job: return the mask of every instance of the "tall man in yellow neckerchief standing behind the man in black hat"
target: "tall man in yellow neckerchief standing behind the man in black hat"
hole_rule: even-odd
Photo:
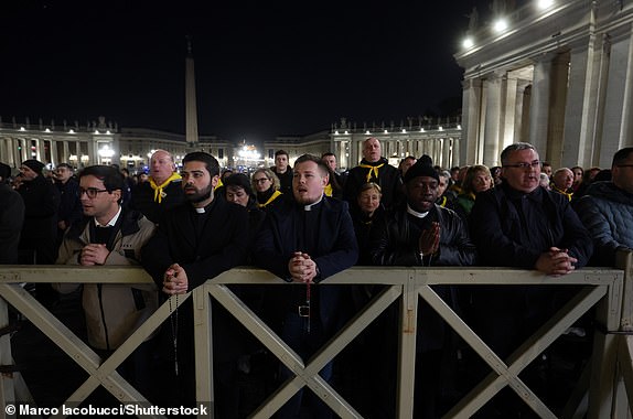
[[[400,172],[380,154],[380,142],[377,139],[371,137],[363,142],[363,160],[361,164],[350,170],[343,191],[343,197],[350,205],[357,205],[358,190],[368,182],[380,186],[383,191],[380,203],[386,210],[390,210],[400,201],[403,184]]]

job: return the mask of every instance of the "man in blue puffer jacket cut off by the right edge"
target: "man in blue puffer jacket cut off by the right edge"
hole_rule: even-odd
[[[616,251],[633,248],[633,147],[613,155],[611,176],[592,183],[576,207],[593,237],[596,266],[615,266]]]

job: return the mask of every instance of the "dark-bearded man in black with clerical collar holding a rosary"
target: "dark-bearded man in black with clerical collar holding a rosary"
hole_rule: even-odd
[[[142,265],[165,297],[184,294],[244,265],[248,250],[247,210],[214,194],[219,181],[217,160],[202,151],[189,153],[181,174],[186,202],[163,214],[157,234],[142,249]],[[204,401],[195,400],[193,307],[191,299],[181,308],[178,298],[174,303],[171,327],[162,329],[168,362],[161,400],[172,406],[193,406]],[[215,399],[221,418],[238,413],[236,373],[243,351],[242,336],[235,333],[238,325],[232,319],[219,304],[214,305]]]

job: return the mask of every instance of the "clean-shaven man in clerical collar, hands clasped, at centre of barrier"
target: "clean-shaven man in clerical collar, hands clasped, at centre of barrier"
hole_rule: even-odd
[[[283,314],[281,337],[303,359],[313,355],[342,325],[342,311],[351,304],[341,287],[312,287],[356,262],[358,246],[347,204],[323,191],[329,181],[325,164],[304,154],[294,163],[294,202],[271,211],[258,235],[254,253],[257,266],[302,286],[283,287],[279,299]],[[312,310],[311,310],[312,309]],[[321,370],[330,380],[331,363]],[[281,368],[282,378],[293,374]],[[298,417],[302,390],[279,411],[280,418]],[[332,411],[320,400],[310,410],[328,418]]]

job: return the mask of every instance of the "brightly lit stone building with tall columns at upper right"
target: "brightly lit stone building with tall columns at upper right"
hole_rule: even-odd
[[[494,11],[483,26],[471,17],[454,55],[464,68],[460,160],[497,165],[504,147],[528,141],[555,168],[610,168],[633,144],[633,4],[540,0]]]

